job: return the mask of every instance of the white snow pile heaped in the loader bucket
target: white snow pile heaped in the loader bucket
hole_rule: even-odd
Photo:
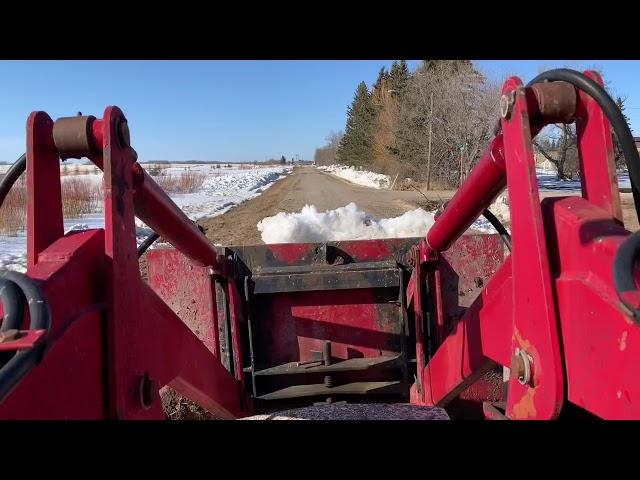
[[[314,205],[296,213],[280,212],[258,222],[258,231],[264,243],[298,243],[421,237],[431,225],[433,214],[421,208],[378,220],[352,202],[325,212]]]

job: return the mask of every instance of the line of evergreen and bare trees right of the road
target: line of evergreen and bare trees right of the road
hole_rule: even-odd
[[[470,60],[406,61],[381,68],[371,88],[360,82],[347,108],[344,132],[331,132],[316,149],[318,165],[341,163],[425,188],[455,188],[469,174],[493,137],[502,82],[492,81]],[[609,89],[609,86],[606,87]],[[624,110],[624,100],[617,97]],[[575,125],[547,127],[534,142],[558,178],[578,174]],[[614,138],[616,164],[623,162]]]

